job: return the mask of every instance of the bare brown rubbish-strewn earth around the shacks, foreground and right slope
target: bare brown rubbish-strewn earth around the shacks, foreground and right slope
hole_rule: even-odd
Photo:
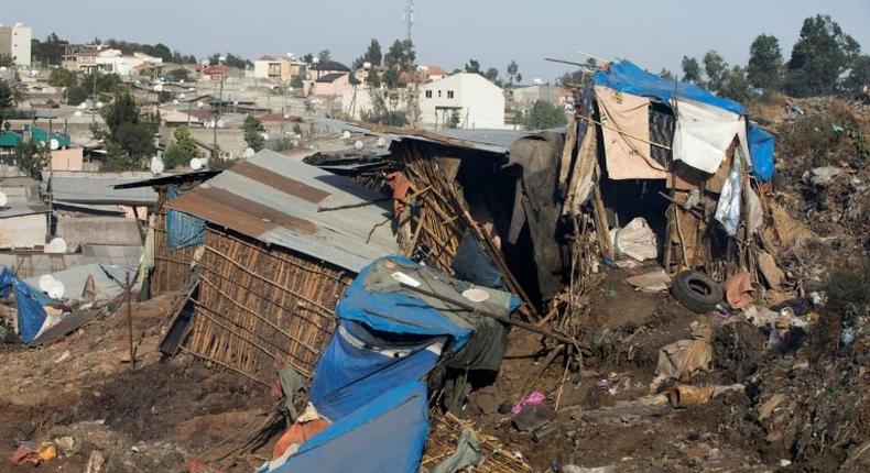
[[[791,295],[827,292],[817,320],[787,329],[774,345],[771,329],[741,312],[698,316],[666,293],[633,290],[627,272],[607,270],[591,293],[592,352],[583,363],[548,359],[546,341],[514,330],[494,383],[476,391],[459,417],[534,472],[569,464],[578,469],[564,471],[870,471],[870,156],[861,151],[870,109],[834,99],[765,107],[757,113],[777,133],[780,163],[769,197],[782,213],[779,227],[794,237],[776,256],[800,283]],[[823,166],[839,170],[814,180]],[[757,304],[790,294],[760,294]],[[50,346],[3,345],[0,471],[186,471],[262,421],[273,404],[267,389],[185,355],[161,360],[156,345],[173,302],[133,305],[135,369],[123,312]],[[651,396],[650,383],[660,349],[688,339],[696,320],[713,327],[713,371],[692,384],[744,388],[675,408]],[[534,391],[558,420],[540,441],[500,414]],[[7,460],[20,441],[50,439],[61,453],[54,460],[36,468]],[[224,464],[252,471],[268,452]]]

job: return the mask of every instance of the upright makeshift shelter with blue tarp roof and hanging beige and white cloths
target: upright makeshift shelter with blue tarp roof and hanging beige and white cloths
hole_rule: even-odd
[[[595,228],[608,260],[620,253],[619,229],[643,218],[632,223],[661,238],[661,252],[650,244],[668,271],[704,267],[724,279],[750,266],[773,136],[740,103],[628,61],[592,82],[576,98],[566,140],[563,215]]]

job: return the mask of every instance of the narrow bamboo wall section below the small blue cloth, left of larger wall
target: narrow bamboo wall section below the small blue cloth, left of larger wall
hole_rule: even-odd
[[[170,250],[166,241],[166,211],[157,213],[154,223],[154,270],[151,273],[151,294],[183,290],[191,283],[191,262],[202,245]]]

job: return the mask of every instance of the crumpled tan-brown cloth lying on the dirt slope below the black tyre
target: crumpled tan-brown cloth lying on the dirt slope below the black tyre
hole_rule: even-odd
[[[713,363],[713,330],[704,322],[692,322],[692,340],[679,340],[659,350],[657,380],[688,382],[697,372],[709,372]]]

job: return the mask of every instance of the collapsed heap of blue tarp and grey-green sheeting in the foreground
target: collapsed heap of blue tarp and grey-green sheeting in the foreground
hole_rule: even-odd
[[[428,432],[426,385],[439,388],[449,376],[436,364],[498,371],[503,354],[500,322],[444,299],[502,316],[519,305],[508,293],[401,256],[360,272],[336,308],[339,328],[312,380],[311,404],[329,427],[289,446],[260,471],[417,471]]]

